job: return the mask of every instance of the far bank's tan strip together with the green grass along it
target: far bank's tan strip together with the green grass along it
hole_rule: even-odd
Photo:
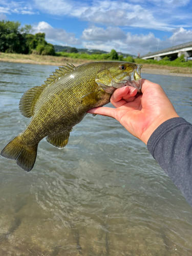
[[[64,55],[64,56],[63,56]],[[65,65],[66,62],[73,63],[75,66],[78,66],[82,63],[87,63],[90,61],[99,61],[99,60],[109,60],[109,59],[92,59],[91,57],[95,57],[94,55],[102,55],[102,54],[93,54],[88,55],[87,58],[74,58],[74,53],[65,53],[61,56],[46,56],[46,55],[35,55],[35,54],[15,54],[15,53],[1,53],[0,61],[8,61],[8,62],[17,62],[17,63],[30,63],[30,64],[38,64],[38,65],[52,65],[52,66],[62,66]],[[83,54],[78,54],[82,57]],[[73,57],[72,57],[73,56]],[[85,57],[85,56],[84,56]],[[132,57],[128,57],[126,61],[133,61]],[[148,70],[168,70],[171,73],[180,73],[180,74],[192,74],[192,61],[187,62],[178,62],[176,61],[167,61],[167,60],[144,60],[144,59],[134,59],[134,61],[138,64],[143,65],[143,69]],[[170,63],[172,62],[172,63]],[[187,64],[188,63],[188,64]],[[191,64],[190,64],[191,63]],[[180,65],[171,66],[171,65]],[[187,67],[186,65],[189,65]],[[191,66],[190,66],[191,65]]]

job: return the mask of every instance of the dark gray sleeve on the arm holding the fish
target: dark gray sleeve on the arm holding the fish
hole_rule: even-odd
[[[181,117],[165,121],[147,148],[192,206],[192,125]]]

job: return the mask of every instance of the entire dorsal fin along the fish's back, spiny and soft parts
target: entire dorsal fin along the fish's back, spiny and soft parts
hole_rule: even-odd
[[[34,106],[42,93],[42,91],[47,87],[50,83],[52,83],[57,78],[66,75],[67,73],[73,71],[75,69],[75,66],[73,64],[67,63],[66,66],[59,67],[59,69],[56,69],[55,72],[53,72],[53,75],[50,75],[49,78],[47,78],[47,81],[45,81],[44,84],[41,86],[35,86],[33,88],[30,88],[27,90],[22,98],[19,101],[19,110],[22,115],[24,115],[27,118],[30,118],[33,116],[33,110]]]

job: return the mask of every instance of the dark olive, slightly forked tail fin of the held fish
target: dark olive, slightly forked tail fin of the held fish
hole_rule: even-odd
[[[18,166],[30,172],[37,156],[37,145],[28,146],[22,143],[22,136],[18,135],[1,152],[1,156],[16,160]]]

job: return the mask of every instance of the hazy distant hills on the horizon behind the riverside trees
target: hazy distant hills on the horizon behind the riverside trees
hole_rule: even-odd
[[[54,46],[55,52],[62,52],[63,50],[70,52],[70,49],[71,49],[71,48],[72,48],[72,47],[70,47],[70,46],[57,46],[57,45]],[[94,54],[94,53],[97,53],[97,54],[109,53],[109,52],[105,52],[105,51],[98,50],[98,49],[89,50],[89,49],[78,49],[78,48],[77,48],[77,51],[78,51],[79,53],[80,53],[80,52],[84,52],[84,53],[88,53],[88,54]],[[135,55],[126,54],[126,53],[121,53],[121,52],[118,52],[118,55],[123,55],[124,58],[126,58],[127,56],[132,56],[132,57],[134,57],[134,58],[136,57]]]

